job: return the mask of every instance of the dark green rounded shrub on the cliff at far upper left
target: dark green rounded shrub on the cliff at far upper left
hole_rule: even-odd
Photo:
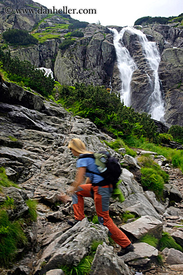
[[[37,44],[38,40],[34,38],[27,30],[9,28],[2,33],[2,38],[10,44],[29,45]]]

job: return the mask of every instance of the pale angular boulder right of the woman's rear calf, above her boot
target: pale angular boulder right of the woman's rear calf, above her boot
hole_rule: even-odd
[[[160,239],[162,236],[163,222],[154,216],[146,215],[122,225],[121,228],[137,239],[140,239],[146,234],[152,234]]]

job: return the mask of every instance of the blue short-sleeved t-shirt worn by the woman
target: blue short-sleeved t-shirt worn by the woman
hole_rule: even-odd
[[[80,154],[82,155],[82,154]],[[95,159],[92,157],[85,157],[85,158],[79,158],[76,163],[76,167],[86,167],[88,170],[96,173],[100,173],[100,171],[97,168],[97,165],[95,164]],[[86,172],[85,174],[87,177],[90,178],[92,183],[98,183],[99,181],[103,180],[104,177],[98,174],[92,174],[89,172]]]

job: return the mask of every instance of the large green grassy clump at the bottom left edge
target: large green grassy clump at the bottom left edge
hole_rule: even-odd
[[[18,220],[10,221],[7,212],[0,209],[0,266],[15,259],[17,251],[27,242]]]

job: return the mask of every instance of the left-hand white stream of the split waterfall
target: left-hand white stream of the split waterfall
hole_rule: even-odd
[[[121,100],[124,101],[126,106],[131,106],[131,79],[132,74],[137,65],[135,64],[133,58],[130,56],[128,49],[123,45],[122,38],[125,31],[118,33],[118,31],[113,28],[110,29],[114,33],[114,46],[116,49],[118,69],[120,71],[120,77],[122,80],[122,88],[120,90]],[[120,41],[120,42],[119,42]]]

